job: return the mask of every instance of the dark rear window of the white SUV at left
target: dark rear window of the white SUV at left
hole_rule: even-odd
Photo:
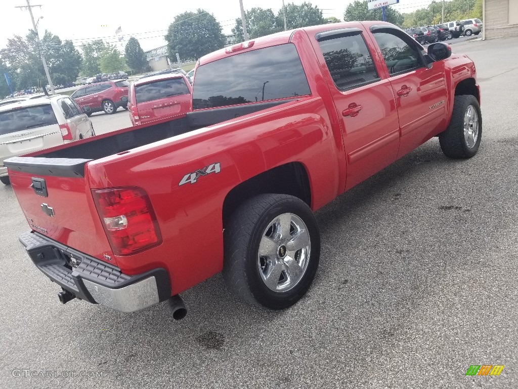
[[[0,112],[0,135],[57,124],[50,104]]]

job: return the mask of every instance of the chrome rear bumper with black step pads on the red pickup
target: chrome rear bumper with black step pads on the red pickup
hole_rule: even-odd
[[[37,232],[20,235],[36,267],[76,297],[120,312],[135,312],[171,297],[165,269],[126,275],[115,266]]]

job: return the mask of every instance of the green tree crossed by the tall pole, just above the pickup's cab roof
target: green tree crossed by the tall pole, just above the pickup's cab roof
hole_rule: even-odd
[[[282,29],[276,25],[276,17],[271,8],[252,8],[250,11],[244,12],[244,19],[247,21],[247,34],[249,39],[282,31]],[[241,18],[236,19],[236,25],[232,29],[232,33],[236,36],[236,42],[242,42],[244,40]]]

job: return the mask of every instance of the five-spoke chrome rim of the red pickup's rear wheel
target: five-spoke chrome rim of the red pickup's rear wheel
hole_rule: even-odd
[[[306,224],[297,215],[284,213],[265,229],[257,267],[265,285],[276,292],[292,289],[308,268],[311,241]]]

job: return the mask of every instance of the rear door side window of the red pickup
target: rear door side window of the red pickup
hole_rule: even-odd
[[[319,45],[338,90],[346,91],[380,79],[361,34],[326,39]]]

